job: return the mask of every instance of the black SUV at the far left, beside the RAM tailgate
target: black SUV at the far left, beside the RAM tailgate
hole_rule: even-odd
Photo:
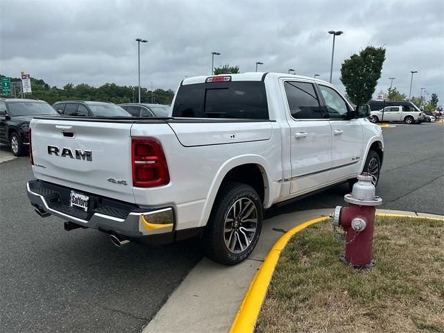
[[[0,142],[9,144],[15,156],[23,155],[29,146],[29,122],[43,115],[60,117],[45,101],[0,99]]]

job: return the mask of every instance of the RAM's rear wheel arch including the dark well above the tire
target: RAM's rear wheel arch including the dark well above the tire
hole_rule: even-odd
[[[261,198],[262,205],[267,206],[271,200],[272,182],[268,175],[271,173],[268,163],[264,157],[259,155],[244,155],[241,157],[234,157],[228,160],[221,166],[216,173],[210,191],[208,192],[203,207],[202,215],[200,216],[199,227],[205,226],[210,217],[214,200],[221,189],[221,185],[225,182],[243,182],[253,187],[259,198]]]

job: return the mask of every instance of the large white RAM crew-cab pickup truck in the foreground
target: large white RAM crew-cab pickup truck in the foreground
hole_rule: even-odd
[[[384,144],[369,113],[313,78],[186,78],[170,117],[34,118],[28,198],[66,230],[116,245],[200,236],[208,257],[236,264],[267,208],[363,171],[377,184]]]

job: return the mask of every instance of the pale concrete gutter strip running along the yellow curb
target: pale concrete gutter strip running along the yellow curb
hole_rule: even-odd
[[[294,226],[332,212],[334,207],[282,214],[265,220],[255,250],[236,266],[223,266],[203,258],[143,333],[229,332],[250,282],[275,242]],[[377,210],[377,213],[443,217],[395,210]],[[168,277],[165,277],[165,282],[168,282]]]

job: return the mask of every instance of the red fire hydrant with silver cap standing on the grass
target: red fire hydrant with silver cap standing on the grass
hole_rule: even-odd
[[[344,200],[350,203],[349,207],[337,206],[334,214],[330,215],[334,231],[341,225],[347,233],[345,255],[341,256],[341,260],[355,268],[368,268],[376,264],[372,259],[373,230],[376,206],[382,204],[382,199],[375,196],[372,179],[366,173],[358,176],[352,193],[344,196]]]

